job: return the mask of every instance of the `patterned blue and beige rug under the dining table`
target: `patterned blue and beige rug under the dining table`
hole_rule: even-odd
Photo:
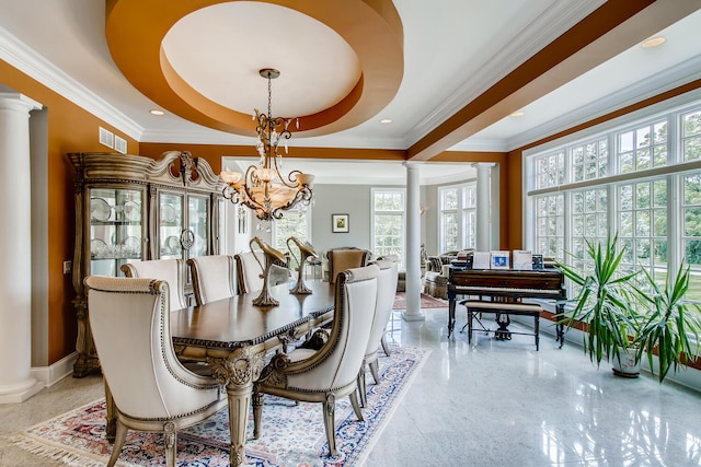
[[[380,351],[381,384],[367,374],[368,404],[365,421],[358,422],[347,397],[336,402],[335,457],[325,457],[321,404],[300,402],[265,396],[262,435],[252,440],[253,416],[249,416],[246,466],[354,466],[363,464],[382,429],[411,386],[429,350],[391,347],[391,355]],[[229,465],[229,416],[222,409],[208,420],[177,434],[177,466],[215,467]],[[104,399],[11,435],[12,441],[35,454],[71,466],[104,466],[112,453],[105,440]],[[118,466],[164,465],[160,434],[129,430]]]

